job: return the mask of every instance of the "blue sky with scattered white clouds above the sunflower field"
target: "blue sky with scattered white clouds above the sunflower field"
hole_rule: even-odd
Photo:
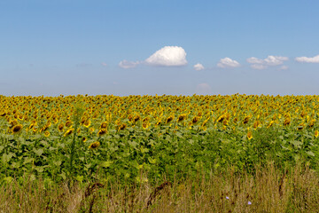
[[[0,91],[318,94],[318,10],[315,0],[2,0]]]

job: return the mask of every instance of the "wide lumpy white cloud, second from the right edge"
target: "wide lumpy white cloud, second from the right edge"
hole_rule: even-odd
[[[288,57],[284,56],[268,56],[266,59],[257,59],[255,57],[246,59],[246,61],[252,64],[253,69],[265,69],[268,66],[278,66],[284,64],[284,61],[288,60]]]

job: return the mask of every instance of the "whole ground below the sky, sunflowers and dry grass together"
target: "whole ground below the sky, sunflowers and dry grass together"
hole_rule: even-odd
[[[318,207],[317,96],[0,96],[0,102],[2,209]]]

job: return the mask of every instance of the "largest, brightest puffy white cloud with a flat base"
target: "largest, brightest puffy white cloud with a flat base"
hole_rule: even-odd
[[[183,66],[187,64],[186,52],[182,47],[165,46],[153,53],[145,63],[152,66]]]

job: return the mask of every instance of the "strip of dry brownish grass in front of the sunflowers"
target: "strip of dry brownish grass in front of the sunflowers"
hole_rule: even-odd
[[[1,212],[318,212],[319,176],[269,166],[254,176],[198,174],[152,186],[94,183],[45,187],[42,180],[1,186]],[[250,204],[251,203],[251,204]]]

